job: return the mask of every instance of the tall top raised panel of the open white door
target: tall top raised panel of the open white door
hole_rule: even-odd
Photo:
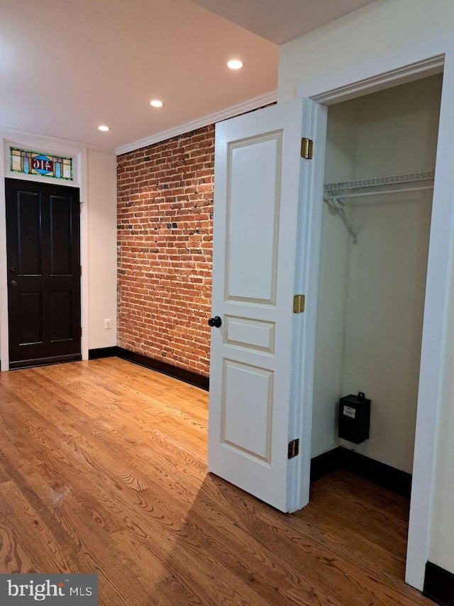
[[[276,304],[282,131],[228,147],[228,301]]]

